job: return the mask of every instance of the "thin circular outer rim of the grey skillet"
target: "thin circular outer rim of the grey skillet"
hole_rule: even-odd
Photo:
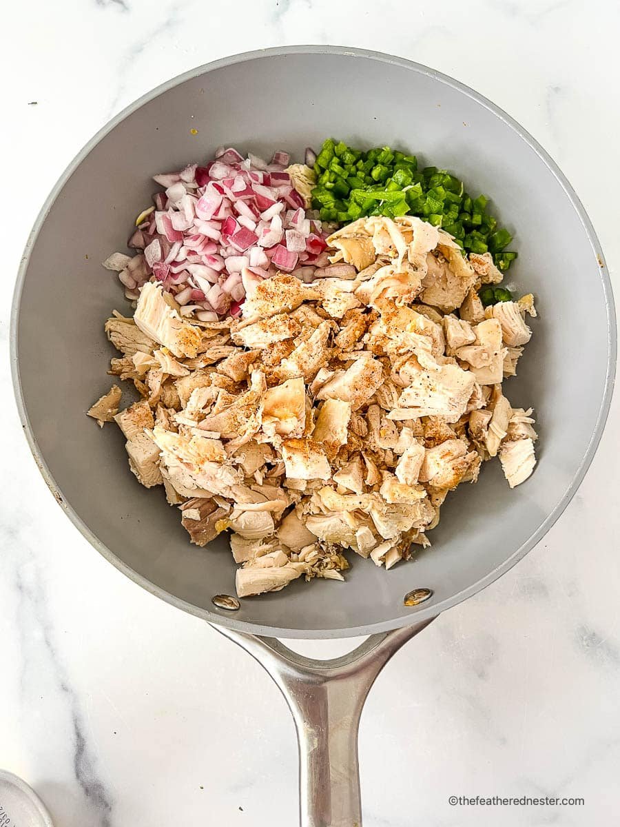
[[[594,428],[592,437],[589,441],[588,447],[584,452],[584,456],[582,457],[579,466],[575,471],[575,475],[573,476],[572,480],[570,480],[570,485],[565,490],[564,495],[558,501],[555,508],[552,509],[551,513],[546,516],[546,519],[541,523],[537,531],[533,533],[530,538],[527,539],[526,543],[523,543],[520,547],[517,548],[515,552],[513,552],[513,554],[511,554],[506,560],[504,560],[503,563],[501,563],[499,566],[496,566],[496,568],[494,568],[493,571],[490,571],[488,575],[484,576],[479,581],[476,581],[471,586],[468,586],[466,589],[457,592],[455,595],[452,595],[450,598],[442,600],[441,603],[428,606],[422,605],[418,609],[415,609],[413,611],[410,609],[406,614],[399,614],[397,617],[381,621],[380,623],[369,624],[366,626],[351,627],[346,629],[286,629],[237,620],[234,616],[230,614],[219,614],[209,609],[199,608],[198,606],[188,603],[186,600],[181,600],[179,597],[170,594],[168,591],[161,588],[160,586],[155,586],[154,583],[147,580],[147,578],[145,578],[141,574],[138,574],[138,572],[133,571],[133,569],[131,569],[130,566],[128,566],[119,557],[117,557],[117,555],[114,552],[112,552],[112,550],[109,549],[90,530],[90,528],[88,528],[86,523],[84,523],[83,520],[79,517],[79,514],[77,514],[77,512],[73,509],[69,502],[64,499],[64,495],[60,490],[59,486],[56,484],[55,479],[52,476],[50,469],[48,468],[45,462],[45,458],[43,457],[37,445],[36,436],[33,433],[30,419],[28,418],[26,404],[21,389],[21,375],[18,359],[18,327],[21,311],[21,294],[23,291],[24,283],[26,281],[26,272],[28,270],[28,265],[30,263],[31,251],[33,250],[36,244],[37,237],[41,232],[41,227],[43,227],[45,219],[50,213],[50,209],[53,207],[56,198],[58,198],[58,196],[60,195],[60,192],[64,188],[64,185],[69,181],[71,175],[74,174],[74,171],[78,169],[79,165],[86,158],[86,156],[94,149],[95,146],[97,146],[100,143],[100,141],[103,140],[105,136],[107,136],[107,134],[110,131],[112,131],[112,129],[117,127],[119,123],[124,121],[134,112],[137,112],[145,103],[149,103],[151,100],[157,98],[160,94],[167,92],[169,89],[174,88],[175,86],[179,86],[180,84],[183,84],[184,82],[194,79],[202,74],[207,74],[208,72],[211,72],[214,69],[226,68],[227,66],[245,63],[249,60],[256,60],[259,58],[272,56],[279,57],[283,55],[352,56],[355,58],[376,60],[380,63],[387,63],[389,65],[400,66],[403,69],[410,69],[417,72],[418,74],[424,74],[427,77],[435,80],[439,84],[445,84],[447,86],[450,86],[458,92],[465,94],[467,97],[472,98],[473,100],[475,100],[476,103],[479,103],[479,105],[488,109],[489,112],[492,112],[508,127],[515,131],[517,135],[522,139],[522,141],[525,141],[527,145],[530,146],[530,148],[536,152],[536,154],[539,156],[542,162],[551,171],[551,174],[553,174],[554,177],[557,179],[558,183],[560,184],[560,187],[564,190],[566,197],[569,198],[572,207],[575,209],[575,213],[577,213],[579,221],[584,227],[584,231],[586,237],[588,238],[590,246],[592,247],[594,257],[599,263],[599,275],[603,287],[603,297],[607,313],[607,370],[605,375],[605,387],[603,391],[603,398],[601,399],[601,404],[599,406],[599,413],[596,419],[596,426]],[[90,139],[90,141],[88,141],[83,146],[79,153],[75,155],[74,159],[66,167],[64,172],[60,175],[60,178],[56,182],[48,197],[45,199],[45,203],[41,208],[41,212],[37,216],[36,222],[34,223],[30,235],[26,241],[26,246],[21,256],[20,267],[17,273],[17,281],[12,299],[10,347],[13,390],[17,402],[17,409],[19,411],[23,431],[26,434],[26,440],[31,449],[32,455],[36,461],[36,465],[38,466],[39,471],[41,471],[41,475],[43,476],[45,483],[50,488],[51,493],[54,495],[55,500],[60,504],[61,508],[64,509],[65,514],[67,514],[67,516],[69,517],[71,522],[74,523],[76,528],[79,529],[79,532],[83,535],[83,537],[86,538],[88,542],[94,548],[96,548],[100,554],[102,554],[102,556],[107,560],[107,562],[111,562],[113,566],[115,566],[119,571],[122,571],[122,573],[129,577],[131,581],[134,581],[138,586],[141,586],[151,595],[160,597],[162,600],[165,600],[167,603],[174,605],[176,608],[183,609],[184,611],[188,612],[188,614],[193,614],[196,617],[199,617],[203,620],[207,620],[207,622],[209,623],[220,624],[222,626],[226,626],[228,629],[235,629],[238,632],[266,635],[272,638],[303,639],[357,637],[369,635],[372,633],[387,632],[391,629],[399,629],[409,624],[419,623],[421,621],[431,619],[432,617],[435,617],[437,614],[441,614],[441,612],[446,611],[446,609],[451,609],[452,606],[458,605],[459,603],[463,602],[463,600],[467,600],[467,598],[477,594],[479,591],[486,588],[486,586],[489,586],[491,583],[496,581],[498,577],[502,576],[507,571],[509,571],[517,562],[519,562],[519,560],[522,559],[522,557],[525,557],[527,552],[531,551],[531,549],[535,545],[537,545],[537,543],[540,542],[541,538],[543,538],[547,531],[549,531],[551,526],[554,523],[556,523],[556,520],[560,518],[560,514],[564,512],[566,506],[570,503],[570,500],[572,500],[573,496],[575,495],[575,492],[577,491],[579,485],[584,479],[585,473],[586,471],[588,471],[590,463],[594,458],[594,454],[597,448],[599,447],[599,442],[603,435],[603,428],[608,418],[609,408],[611,405],[613,395],[618,344],[616,313],[613,303],[613,291],[611,280],[609,278],[607,265],[605,264],[603,249],[600,245],[599,238],[597,237],[596,232],[594,231],[592,222],[590,221],[583,204],[580,202],[579,197],[575,193],[575,190],[570,185],[568,179],[566,179],[565,174],[562,173],[558,165],[556,165],[556,162],[551,158],[551,155],[549,155],[546,152],[546,150],[544,150],[542,146],[538,143],[538,141],[536,141],[529,134],[529,132],[523,129],[523,127],[521,127],[520,124],[518,124],[513,119],[513,117],[510,117],[510,115],[508,115],[507,112],[504,112],[503,109],[499,108],[494,103],[489,101],[488,98],[484,98],[483,95],[475,92],[474,89],[466,86],[465,84],[461,84],[460,81],[451,78],[449,75],[438,72],[436,71],[436,69],[431,69],[428,66],[416,63],[413,60],[407,60],[406,58],[387,55],[384,52],[378,52],[367,49],[358,49],[348,46],[293,45],[277,46],[269,49],[242,52],[238,55],[229,55],[219,60],[213,60],[207,64],[200,65],[198,67],[195,67],[194,69],[189,69],[187,72],[179,74],[176,77],[165,81],[164,84],[160,84],[159,86],[151,89],[149,92],[142,95],[141,98],[137,98],[136,101],[129,104],[129,106],[124,108],[122,112],[119,112],[115,117],[108,121],[107,124],[105,124],[105,126],[103,126]]]

